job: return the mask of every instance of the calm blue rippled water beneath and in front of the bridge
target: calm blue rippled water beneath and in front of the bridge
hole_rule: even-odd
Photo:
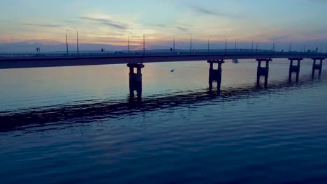
[[[265,88],[227,61],[219,93],[205,61],[147,63],[141,99],[124,65],[0,70],[1,183],[326,183],[311,68],[275,59]]]

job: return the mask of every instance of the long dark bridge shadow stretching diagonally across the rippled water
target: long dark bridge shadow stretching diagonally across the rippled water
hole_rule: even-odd
[[[66,105],[55,107],[41,107],[38,109],[23,109],[17,112],[0,112],[0,132],[24,130],[26,128],[48,125],[48,123],[92,123],[106,118],[124,118],[124,116],[140,112],[152,112],[159,109],[173,107],[187,107],[190,105],[205,105],[205,102],[228,102],[244,98],[258,98],[260,95],[275,93],[273,90],[296,90],[299,86],[309,86],[319,83],[327,77],[313,77],[303,75],[300,82],[292,82],[292,77],[284,81],[256,82],[245,86],[220,89],[219,82],[211,81],[207,89],[197,91],[182,91],[157,98],[142,98],[142,86],[130,86],[127,100],[103,101],[82,105]],[[291,74],[290,74],[291,75]]]

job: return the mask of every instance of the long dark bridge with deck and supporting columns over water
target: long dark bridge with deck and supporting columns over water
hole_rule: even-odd
[[[258,61],[257,79],[265,77],[267,84],[269,63],[273,59],[288,59],[290,61],[290,77],[293,72],[300,72],[300,61],[312,59],[312,75],[319,70],[321,75],[322,62],[327,58],[326,53],[315,52],[147,52],[133,54],[27,54],[0,56],[0,69],[10,68],[42,68],[62,66],[92,66],[127,64],[129,67],[129,84],[131,89],[142,88],[142,68],[145,63],[174,62],[174,61],[208,61],[209,82],[221,84],[222,64],[227,59],[256,59]],[[294,65],[294,62],[296,64]],[[262,65],[264,63],[264,65]],[[217,67],[216,67],[217,66]],[[136,70],[135,70],[136,69]]]

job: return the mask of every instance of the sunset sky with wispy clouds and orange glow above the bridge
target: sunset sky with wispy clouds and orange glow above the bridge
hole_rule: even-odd
[[[66,30],[71,49],[78,28],[81,49],[189,47],[205,49],[208,39],[219,49],[228,39],[239,47],[260,41],[277,48],[327,46],[325,0],[10,0],[1,1],[0,49],[9,52],[64,50]],[[0,50],[1,52],[1,50]]]

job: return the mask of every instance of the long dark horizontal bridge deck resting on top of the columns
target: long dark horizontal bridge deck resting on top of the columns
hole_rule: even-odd
[[[192,54],[97,54],[97,55],[34,55],[0,56],[0,69],[41,68],[58,66],[92,66],[124,63],[156,63],[173,61],[207,61],[212,59],[264,59],[264,58],[321,58],[327,54],[300,52],[232,52],[232,53],[192,53]]]

